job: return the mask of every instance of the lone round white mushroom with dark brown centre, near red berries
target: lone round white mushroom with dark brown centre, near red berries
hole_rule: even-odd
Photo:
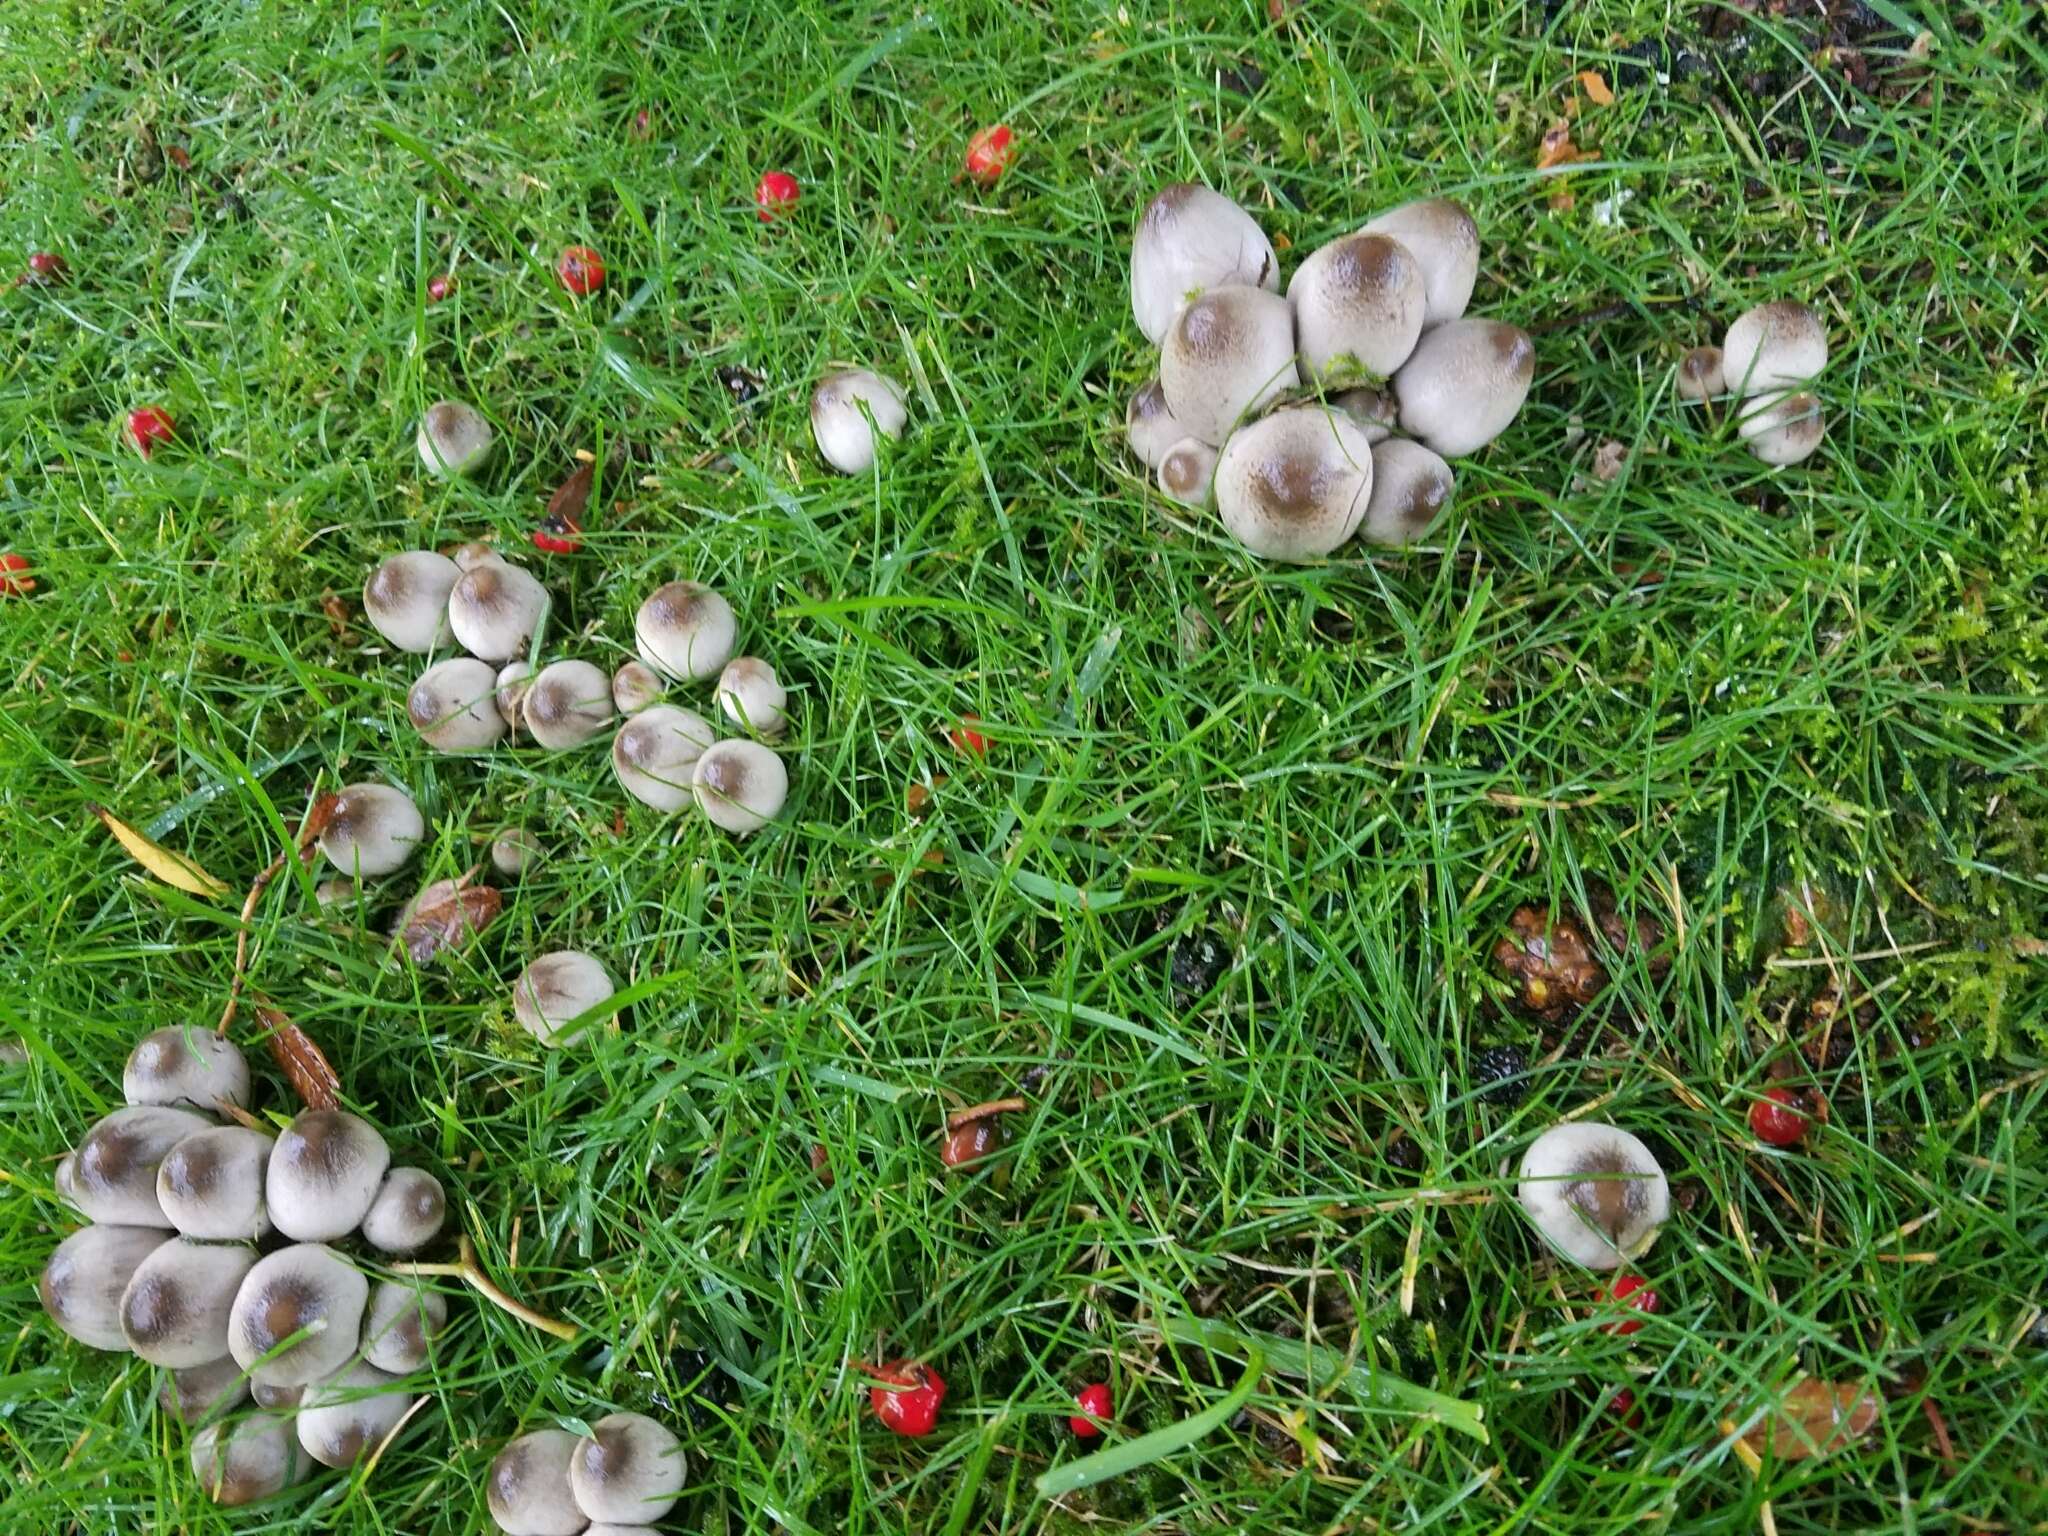
[[[1671,1214],[1671,1186],[1636,1137],[1567,1120],[1530,1143],[1516,1190],[1530,1221],[1567,1260],[1616,1270],[1642,1257]]]

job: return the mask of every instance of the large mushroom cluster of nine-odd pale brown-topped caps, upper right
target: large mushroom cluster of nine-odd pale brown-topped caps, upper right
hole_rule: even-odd
[[[1159,346],[1130,451],[1266,559],[1421,539],[1456,485],[1446,459],[1499,436],[1536,371],[1528,332],[1466,315],[1477,276],[1473,215],[1432,197],[1311,252],[1282,295],[1249,213],[1167,186],[1130,244],[1130,309]]]

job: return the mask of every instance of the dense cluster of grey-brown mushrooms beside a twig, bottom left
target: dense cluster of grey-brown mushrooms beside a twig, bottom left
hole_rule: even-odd
[[[252,1128],[248,1063],[211,1032],[145,1034],[121,1085],[127,1108],[57,1167],[90,1225],[43,1266],[43,1311],[86,1348],[166,1372],[158,1399],[195,1430],[193,1475],[215,1503],[264,1499],[313,1462],[354,1466],[412,1409],[406,1376],[449,1307],[418,1282],[373,1284],[330,1243],[360,1231],[379,1253],[416,1253],[446,1217],[440,1182],[391,1167],[385,1139],[342,1110]]]

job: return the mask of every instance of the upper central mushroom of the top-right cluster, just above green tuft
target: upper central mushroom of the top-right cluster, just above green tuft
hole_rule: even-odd
[[[1415,350],[1427,307],[1421,264],[1389,236],[1346,236],[1315,250],[1286,285],[1309,383],[1384,379]]]

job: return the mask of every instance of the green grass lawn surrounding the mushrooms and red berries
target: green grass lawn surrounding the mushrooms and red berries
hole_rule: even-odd
[[[702,1346],[731,1405],[666,1413],[692,1489],[664,1530],[1077,1530],[1032,1493],[1077,1454],[1071,1391],[1108,1376],[1128,1436],[1219,1403],[1237,1358],[1151,1327],[1198,1305],[1479,1403],[1491,1442],[1270,1370],[1249,1417],[1073,1495],[1096,1528],[1751,1532],[1765,1501],[1788,1536],[2040,1528],[2048,1012],[2015,938],[2048,936],[2048,43],[2019,0],[1960,29],[1880,10],[1935,27],[1923,92],[1862,94],[1806,23],[1765,20],[1706,82],[1585,104],[1599,158],[1563,182],[1532,162],[1571,76],[1706,12],[0,10],[0,252],[76,276],[0,295],[0,496],[41,584],[0,600],[0,1026],[29,1053],[0,1075],[6,1528],[481,1530],[504,1438],[680,1397],[670,1348]],[[1219,82],[1241,61],[1251,96]],[[1784,76],[1761,98],[1759,63]],[[954,172],[995,119],[1020,156],[981,195]],[[1866,137],[1831,143],[1841,123]],[[190,172],[137,182],[143,125]],[[776,227],[752,211],[768,166],[805,186]],[[1120,449],[1149,371],[1128,229],[1186,176],[1288,266],[1444,190],[1487,242],[1477,309],[1626,307],[1540,336],[1522,420],[1458,465],[1427,547],[1257,565]],[[604,252],[594,301],[551,281],[565,244]],[[461,289],[428,307],[440,270]],[[1679,352],[1769,297],[1819,305],[1835,348],[1829,440],[1780,473],[1671,399]],[[909,385],[874,477],[811,451],[831,360]],[[752,410],[719,365],[762,375]],[[418,471],[442,395],[500,426],[477,483]],[[154,463],[119,438],[145,401],[180,432]],[[383,553],[522,543],[612,432],[653,446],[651,479],[545,563],[549,651],[621,657],[659,580],[723,590],[795,688],[793,801],[750,842],[614,819],[600,745],[426,754],[410,668],[322,612]],[[963,713],[985,762],[944,739]],[[905,788],[942,774],[911,819]],[[461,1190],[494,1274],[586,1333],[457,1300],[434,1401],[373,1479],[229,1518],[154,1372],[35,1303],[72,1223],[53,1159],[119,1102],[135,1034],[211,1024],[233,952],[231,903],[143,881],[86,807],[246,885],[354,778],[432,823],[379,909],[508,823],[547,862],[428,973],[281,881],[254,983]],[[1663,926],[1669,971],[1620,963],[1614,1028],[1487,1104],[1475,1047],[1540,1055],[1489,948],[1595,877]],[[1780,952],[1800,883],[1829,920]],[[1202,930],[1231,969],[1176,999],[1171,948]],[[557,946],[639,999],[545,1055],[508,989]],[[1829,977],[1870,1006],[1821,1073],[1833,1124],[1761,1155],[1749,1096]],[[1923,1014],[1935,1042],[1903,1047]],[[946,1176],[944,1112],[1030,1069],[1008,1190]],[[1587,1104],[1698,1188],[1634,1337],[1501,1200],[1530,1135]],[[1397,1130],[1421,1171],[1389,1161]],[[866,1411],[850,1362],[891,1356],[950,1384],[930,1440]],[[1751,1477],[1718,1423],[1798,1370],[1896,1401],[1855,1452]],[[1618,1384],[1642,1407],[1620,1436]]]

